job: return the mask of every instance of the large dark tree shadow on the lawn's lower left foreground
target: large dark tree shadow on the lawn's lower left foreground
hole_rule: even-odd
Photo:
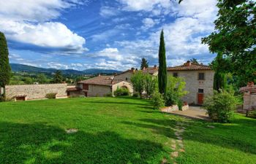
[[[160,163],[161,144],[110,131],[67,134],[42,123],[0,123],[0,163]]]

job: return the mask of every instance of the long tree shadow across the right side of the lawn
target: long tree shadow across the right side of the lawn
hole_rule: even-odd
[[[184,126],[187,127],[184,132],[184,140],[256,154],[256,120],[236,119],[233,124],[229,125],[214,124],[203,120],[178,120],[178,117],[176,120],[141,119],[139,121],[144,123],[122,123],[149,128],[154,133],[175,138],[173,128],[177,122],[183,122]],[[214,125],[215,128],[208,128],[207,125]]]

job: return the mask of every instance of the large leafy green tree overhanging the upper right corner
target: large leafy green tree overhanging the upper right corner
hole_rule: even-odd
[[[251,0],[219,0],[215,31],[202,39],[211,52],[230,60],[227,70],[239,85],[256,82],[256,3]]]

